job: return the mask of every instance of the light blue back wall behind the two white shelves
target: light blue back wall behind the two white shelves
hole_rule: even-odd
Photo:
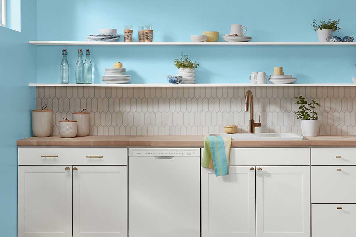
[[[155,41],[190,41],[203,31],[229,33],[230,24],[245,24],[253,41],[318,41],[310,25],[313,19],[341,18],[340,36],[356,38],[356,2],[331,0],[38,0],[38,40],[80,40],[101,28],[116,28],[123,34],[125,24],[154,26]],[[334,33],[335,34],[335,33]],[[35,38],[33,38],[35,39]],[[121,41],[123,39],[121,38]],[[222,39],[220,38],[219,41]],[[38,47],[39,83],[58,83],[61,46]],[[70,82],[78,48],[67,47]],[[89,47],[95,64],[94,82],[100,83],[105,67],[121,61],[132,83],[166,83],[176,75],[173,60],[181,52],[200,64],[198,83],[246,83],[251,71],[273,73],[283,66],[297,83],[349,83],[355,77],[356,47],[351,46],[116,46]],[[34,81],[36,82],[36,81]]]

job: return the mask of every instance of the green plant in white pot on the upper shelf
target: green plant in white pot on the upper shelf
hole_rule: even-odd
[[[319,42],[329,42],[333,32],[341,30],[339,21],[340,19],[333,20],[332,18],[329,18],[328,21],[321,20],[319,24],[315,20],[313,21],[312,26],[318,33]]]

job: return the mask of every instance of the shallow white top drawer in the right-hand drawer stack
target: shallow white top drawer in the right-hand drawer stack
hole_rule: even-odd
[[[312,165],[356,165],[356,148],[312,148]]]

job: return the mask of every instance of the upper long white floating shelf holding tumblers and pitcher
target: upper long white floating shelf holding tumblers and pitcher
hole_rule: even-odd
[[[88,41],[29,41],[35,45],[356,45],[356,42],[88,42]]]

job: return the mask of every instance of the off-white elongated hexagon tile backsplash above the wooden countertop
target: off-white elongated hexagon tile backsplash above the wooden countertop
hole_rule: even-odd
[[[254,96],[256,132],[301,133],[295,97],[320,103],[321,135],[356,134],[355,87],[37,87],[36,109],[53,109],[58,121],[87,108],[91,135],[207,135],[236,124],[246,133],[250,113],[245,93]]]

